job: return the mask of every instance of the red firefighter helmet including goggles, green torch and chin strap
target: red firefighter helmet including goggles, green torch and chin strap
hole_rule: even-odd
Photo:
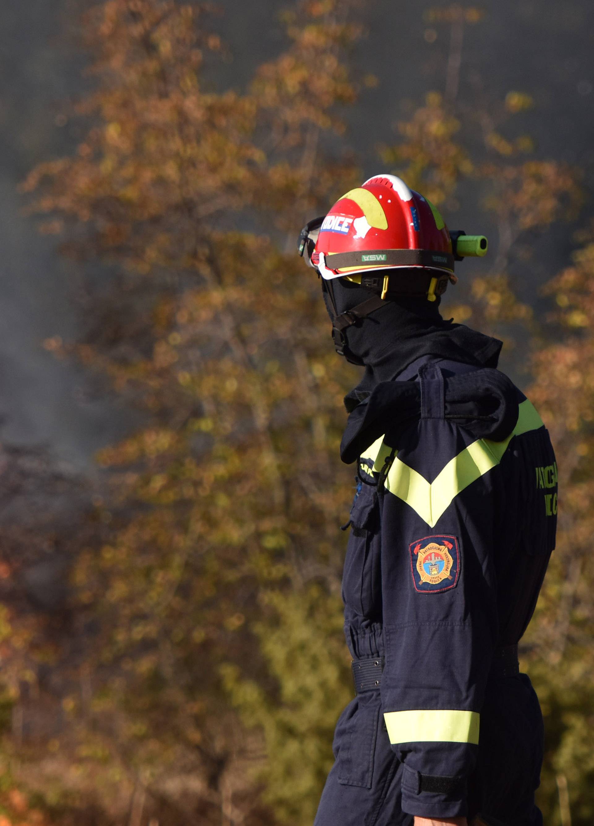
[[[323,278],[332,306],[332,336],[342,355],[347,354],[344,331],[349,326],[380,309],[384,301],[435,301],[448,282],[457,280],[454,262],[467,255],[483,256],[487,246],[484,235],[450,232],[431,201],[395,175],[375,175],[351,189],[327,216],[309,221],[299,235],[299,255],[306,254]],[[348,278],[375,296],[339,315],[334,278]]]

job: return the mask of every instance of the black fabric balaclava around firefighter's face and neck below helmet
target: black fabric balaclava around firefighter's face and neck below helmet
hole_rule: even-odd
[[[414,273],[411,273],[413,276]],[[338,314],[351,310],[375,292],[344,278],[332,279]],[[324,301],[332,319],[332,308],[324,290]],[[384,306],[344,330],[348,349],[365,366],[361,382],[345,396],[351,411],[380,382],[389,382],[408,364],[424,355],[435,355],[479,367],[497,367],[502,342],[441,318],[440,299],[401,298]]]

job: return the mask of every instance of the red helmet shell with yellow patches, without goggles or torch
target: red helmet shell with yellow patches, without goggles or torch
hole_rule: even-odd
[[[367,270],[420,268],[436,271],[439,292],[455,280],[452,242],[440,212],[395,175],[375,175],[338,199],[322,221],[311,262],[325,279],[360,282],[353,276]],[[430,299],[437,283],[432,286],[424,291]],[[417,285],[403,292],[417,293]]]

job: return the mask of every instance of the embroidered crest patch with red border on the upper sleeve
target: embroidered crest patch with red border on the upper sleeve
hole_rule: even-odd
[[[456,586],[460,574],[460,550],[455,536],[426,536],[409,547],[415,591],[436,594]]]

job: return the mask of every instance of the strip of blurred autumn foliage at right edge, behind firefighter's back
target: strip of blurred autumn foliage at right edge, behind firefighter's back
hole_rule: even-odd
[[[594,760],[589,745],[594,686],[592,499],[594,497],[594,235],[582,234],[573,264],[547,286],[558,335],[535,354],[532,396],[559,456],[559,534],[536,621],[530,671],[542,701],[547,765],[542,797],[555,821],[594,817]],[[559,814],[555,811],[559,805]]]

